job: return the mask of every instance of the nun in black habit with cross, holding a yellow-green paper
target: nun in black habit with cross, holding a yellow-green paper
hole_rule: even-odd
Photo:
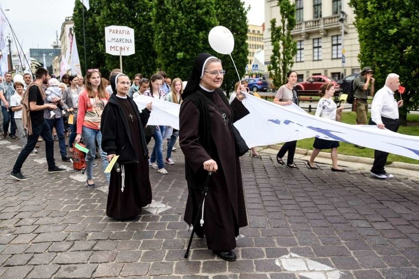
[[[151,103],[141,112],[128,97],[130,80],[125,74],[111,76],[113,94],[102,113],[102,148],[110,162],[119,155],[111,170],[106,215],[118,220],[135,218],[151,203],[149,161],[144,127]]]

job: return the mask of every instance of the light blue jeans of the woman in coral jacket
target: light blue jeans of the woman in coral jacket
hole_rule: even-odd
[[[92,180],[94,158],[96,157],[96,140],[99,144],[99,153],[102,159],[103,170],[105,170],[105,168],[108,167],[109,162],[108,159],[106,159],[106,153],[102,150],[102,133],[100,133],[100,130],[94,130],[83,126],[82,133],[83,143],[86,145],[86,148],[89,149],[89,152],[86,155],[86,175],[88,180]],[[105,175],[109,183],[109,180],[111,179],[111,174],[105,173]]]

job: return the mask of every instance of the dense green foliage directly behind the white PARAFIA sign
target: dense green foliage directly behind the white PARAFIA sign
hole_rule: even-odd
[[[87,69],[99,68],[102,76],[108,78],[112,69],[120,68],[119,56],[105,53],[105,27],[120,25],[133,28],[135,36],[135,54],[122,56],[123,72],[131,78],[136,73],[150,76],[155,72],[156,55],[153,48],[153,26],[150,16],[151,2],[152,0],[90,0],[89,11],[84,10]],[[84,71],[82,8],[82,3],[76,0],[73,12],[74,30],[77,47],[79,48],[80,63]]]

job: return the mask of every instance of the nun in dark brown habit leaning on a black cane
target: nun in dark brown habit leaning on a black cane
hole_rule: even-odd
[[[249,112],[241,104],[245,91],[241,85],[236,99],[229,104],[220,86],[223,82],[221,61],[201,53],[182,94],[180,107],[180,147],[185,155],[188,199],[184,221],[195,221],[202,189],[209,171],[213,172],[205,198],[204,224],[196,234],[206,237],[208,249],[227,261],[235,261],[236,236],[247,225],[239,157],[226,118],[232,122]],[[216,109],[225,113],[223,114]]]

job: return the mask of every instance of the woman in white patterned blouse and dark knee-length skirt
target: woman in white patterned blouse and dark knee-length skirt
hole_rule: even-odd
[[[330,120],[336,120],[336,112],[342,112],[343,107],[336,109],[336,104],[333,101],[334,95],[333,83],[323,84],[320,87],[319,96],[322,97],[317,104],[316,116],[327,118]],[[339,141],[337,140],[324,140],[315,138],[313,143],[313,152],[311,153],[310,160],[307,162],[307,167],[317,169],[314,165],[314,159],[322,149],[331,149],[330,157],[332,160],[331,171],[345,171],[337,165],[337,148],[339,147]]]

